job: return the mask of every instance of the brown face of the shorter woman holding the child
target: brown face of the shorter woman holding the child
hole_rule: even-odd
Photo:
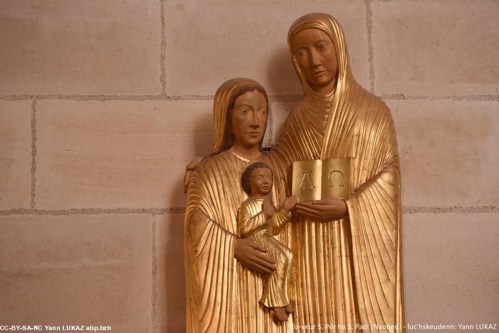
[[[248,91],[239,96],[232,110],[234,142],[245,148],[258,145],[267,127],[267,101],[262,93]]]

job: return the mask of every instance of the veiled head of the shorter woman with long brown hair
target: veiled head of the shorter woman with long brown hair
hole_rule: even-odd
[[[215,94],[212,155],[229,150],[235,140],[261,148],[267,109],[267,93],[258,82],[247,78],[224,82]]]

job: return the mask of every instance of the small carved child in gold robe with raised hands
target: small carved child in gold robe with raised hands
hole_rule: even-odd
[[[249,197],[239,207],[238,229],[243,238],[251,239],[267,249],[266,255],[275,260],[277,268],[270,272],[259,303],[273,311],[277,320],[287,321],[292,313],[288,285],[293,254],[289,248],[273,238],[289,222],[296,196],[284,200],[277,210],[269,193],[273,183],[272,169],[265,163],[251,164],[243,172],[243,189]]]

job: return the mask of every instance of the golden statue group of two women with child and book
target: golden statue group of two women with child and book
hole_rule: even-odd
[[[304,95],[277,145],[262,150],[264,88],[232,79],[213,153],[186,172],[187,332],[404,332],[390,110],[355,82],[332,16],[300,17],[288,46]],[[297,203],[293,163],[347,158],[346,198]]]

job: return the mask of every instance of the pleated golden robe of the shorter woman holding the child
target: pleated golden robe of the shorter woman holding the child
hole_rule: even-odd
[[[269,163],[263,156],[258,161]],[[248,196],[241,176],[246,160],[224,152],[191,173],[185,217],[187,332],[287,332],[258,301],[263,277],[234,258],[238,207]],[[275,191],[274,191],[275,192]],[[287,233],[277,239],[288,243]]]

